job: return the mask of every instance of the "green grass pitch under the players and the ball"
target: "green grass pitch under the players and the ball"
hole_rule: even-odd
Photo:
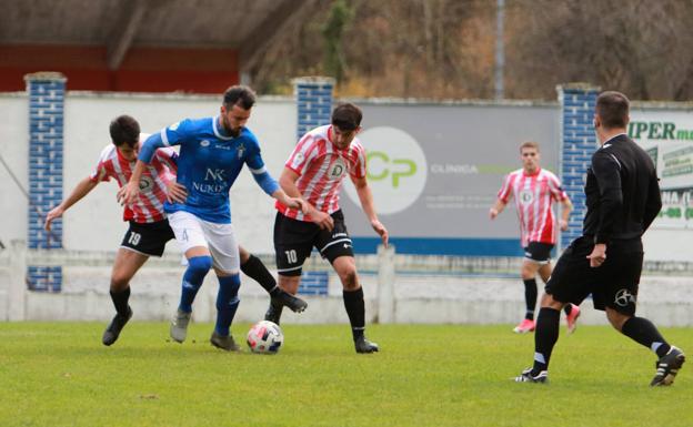
[[[183,345],[163,323],[0,323],[0,426],[691,426],[693,366],[651,388],[655,357],[606,326],[561,331],[551,384],[515,384],[533,336],[511,325],[374,325],[356,355],[346,325],[284,327],[278,355]],[[248,324],[233,326],[244,342]],[[693,352],[691,329],[665,336]]]

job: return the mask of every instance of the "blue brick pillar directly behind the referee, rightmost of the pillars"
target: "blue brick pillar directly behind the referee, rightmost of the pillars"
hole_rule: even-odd
[[[573,202],[568,231],[561,233],[561,247],[582,235],[586,211],[584,180],[592,153],[596,150],[593,119],[600,88],[587,83],[559,85],[561,103],[561,181]]]

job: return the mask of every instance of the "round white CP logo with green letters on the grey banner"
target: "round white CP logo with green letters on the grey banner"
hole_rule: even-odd
[[[368,180],[378,213],[404,211],[425,186],[428,165],[423,151],[409,133],[395,128],[373,128],[359,134],[366,155]],[[360,205],[353,185],[346,194]]]

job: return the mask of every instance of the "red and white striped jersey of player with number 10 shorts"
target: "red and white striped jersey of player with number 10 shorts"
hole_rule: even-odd
[[[331,214],[340,209],[340,191],[346,173],[365,176],[365,150],[358,138],[346,149],[339,150],[332,143],[332,126],[320,126],[301,138],[284,166],[299,174],[297,186],[303,199],[318,211]],[[311,221],[299,210],[279,202],[275,206],[290,218]]]

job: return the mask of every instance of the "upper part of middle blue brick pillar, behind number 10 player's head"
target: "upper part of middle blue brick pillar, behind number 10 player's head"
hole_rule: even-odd
[[[297,140],[313,128],[330,124],[332,113],[332,78],[299,78],[293,80],[299,111]]]

